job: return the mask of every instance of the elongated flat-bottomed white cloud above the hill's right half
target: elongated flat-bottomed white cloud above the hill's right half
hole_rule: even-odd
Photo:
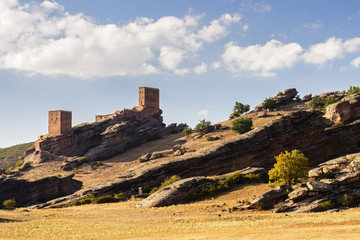
[[[275,70],[290,68],[299,60],[302,47],[297,43],[283,44],[271,40],[265,45],[237,46],[234,42],[226,45],[222,60],[233,73],[249,72],[264,77],[275,76]]]

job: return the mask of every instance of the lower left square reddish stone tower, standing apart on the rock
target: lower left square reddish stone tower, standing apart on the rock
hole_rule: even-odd
[[[62,134],[71,127],[70,111],[49,111],[49,135]]]

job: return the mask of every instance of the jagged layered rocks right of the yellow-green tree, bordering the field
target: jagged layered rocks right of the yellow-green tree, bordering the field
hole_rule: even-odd
[[[360,153],[322,163],[309,172],[307,182],[292,188],[282,185],[274,190],[264,193],[245,208],[261,206],[264,209],[274,208],[275,212],[312,212],[358,206]]]

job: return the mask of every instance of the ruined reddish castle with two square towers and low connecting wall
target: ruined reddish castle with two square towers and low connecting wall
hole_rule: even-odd
[[[144,108],[159,111],[159,89],[150,87],[139,88],[139,105],[130,111],[142,111]],[[104,119],[114,118],[117,115],[125,114],[128,109],[116,111],[113,114],[96,115],[95,121],[99,122]],[[72,128],[72,112],[64,110],[49,111],[49,131],[48,135],[63,134]]]

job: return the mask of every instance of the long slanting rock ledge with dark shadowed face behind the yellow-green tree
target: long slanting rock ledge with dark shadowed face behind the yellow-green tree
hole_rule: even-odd
[[[99,182],[71,196],[56,200],[63,205],[87,194],[123,192],[134,194],[145,183],[158,186],[165,178],[220,175],[248,166],[270,168],[274,156],[298,149],[315,166],[332,157],[359,149],[360,123],[325,130],[326,121],[319,111],[299,111],[285,115],[264,126],[230,140],[216,142],[197,152],[185,153],[171,160],[142,163],[119,174],[116,179]],[[54,201],[39,207],[55,204]]]

